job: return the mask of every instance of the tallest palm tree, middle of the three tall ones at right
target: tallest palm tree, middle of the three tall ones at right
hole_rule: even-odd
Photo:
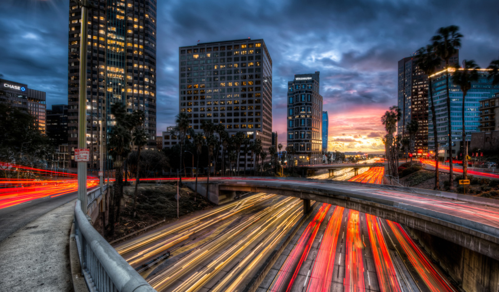
[[[433,47],[437,56],[445,61],[445,68],[449,69],[449,59],[458,52],[461,47],[461,38],[463,35],[459,33],[459,27],[450,25],[441,27],[437,30],[437,35],[432,37]],[[449,94],[449,73],[446,73],[446,88],[447,88],[447,122],[448,122],[448,142],[449,153],[449,188],[454,189],[454,170],[452,163],[452,127],[451,127],[451,98]],[[436,127],[437,125],[434,125]]]

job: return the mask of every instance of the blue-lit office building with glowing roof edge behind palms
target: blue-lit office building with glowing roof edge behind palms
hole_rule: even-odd
[[[434,149],[435,140],[439,146],[448,144],[448,127],[451,127],[453,145],[452,156],[456,157],[459,147],[462,142],[462,109],[463,109],[463,92],[459,86],[452,84],[453,68],[440,71],[431,76],[432,95],[435,100],[435,112],[437,115],[437,139],[433,135],[433,123],[431,109],[429,109],[428,117],[428,144],[431,149]],[[463,69],[457,69],[463,70]],[[465,131],[467,141],[470,140],[471,134],[480,130],[480,102],[490,99],[499,92],[499,85],[492,86],[489,79],[489,71],[487,69],[479,70],[480,78],[476,82],[471,83],[471,89],[468,91],[465,100]],[[447,82],[449,76],[449,90],[451,100],[451,123],[447,120]],[[445,149],[444,149],[445,150]],[[444,150],[440,150],[442,153]],[[445,154],[447,157],[449,153]]]

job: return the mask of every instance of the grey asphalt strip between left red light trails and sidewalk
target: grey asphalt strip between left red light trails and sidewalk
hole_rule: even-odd
[[[0,244],[12,233],[41,215],[74,200],[76,192],[58,197],[43,197],[15,206],[0,209]]]

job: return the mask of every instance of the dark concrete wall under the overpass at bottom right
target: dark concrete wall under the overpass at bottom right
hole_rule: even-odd
[[[499,291],[499,261],[437,236],[407,229],[464,291]]]

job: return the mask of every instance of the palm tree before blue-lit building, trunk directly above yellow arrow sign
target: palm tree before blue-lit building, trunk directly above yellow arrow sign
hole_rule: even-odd
[[[457,85],[461,88],[461,91],[463,92],[463,106],[461,109],[461,121],[463,124],[463,132],[462,132],[462,139],[463,142],[461,143],[461,149],[463,153],[463,179],[468,179],[468,157],[467,157],[467,151],[465,150],[468,148],[468,145],[466,145],[466,127],[465,127],[465,99],[466,99],[466,94],[468,91],[471,89],[471,83],[478,81],[478,78],[480,75],[478,74],[477,69],[480,69],[480,67],[475,63],[474,60],[463,60],[463,70],[457,70],[454,72],[454,75],[452,76],[452,83],[454,85]],[[466,148],[465,148],[466,147]]]

